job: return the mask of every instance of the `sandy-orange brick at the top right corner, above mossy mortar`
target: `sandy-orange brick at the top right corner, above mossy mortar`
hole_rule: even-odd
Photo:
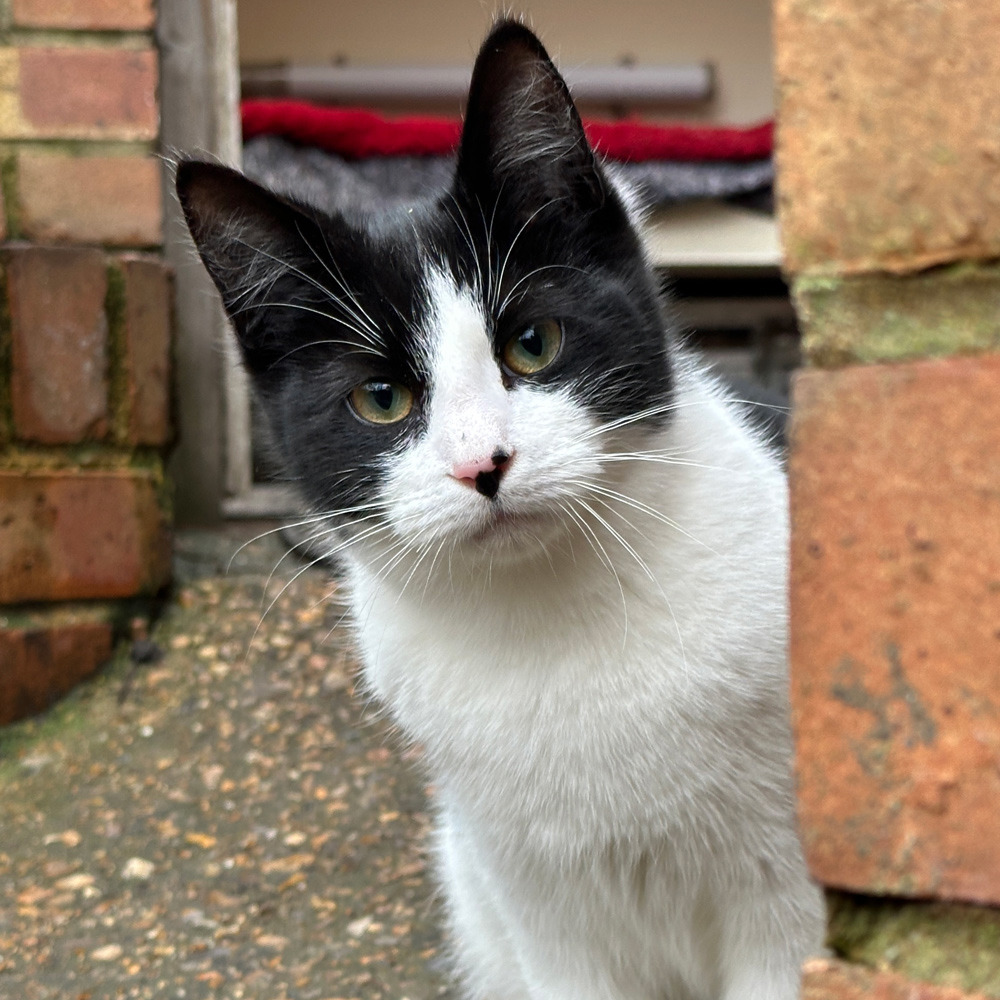
[[[777,0],[786,266],[1000,256],[1000,4]]]

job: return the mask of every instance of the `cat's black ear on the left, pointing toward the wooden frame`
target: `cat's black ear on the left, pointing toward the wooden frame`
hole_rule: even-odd
[[[177,197],[191,236],[222,295],[253,374],[287,350],[290,317],[275,302],[308,295],[314,248],[324,235],[309,211],[279,198],[239,171],[186,160],[176,174]],[[284,310],[287,314],[287,310]]]

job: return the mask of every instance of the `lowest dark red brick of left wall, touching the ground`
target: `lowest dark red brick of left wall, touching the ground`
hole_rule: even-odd
[[[111,656],[106,621],[0,628],[0,726],[48,708]]]

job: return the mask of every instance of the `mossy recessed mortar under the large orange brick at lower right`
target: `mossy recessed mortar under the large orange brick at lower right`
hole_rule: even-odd
[[[842,958],[1000,998],[1000,909],[828,893]]]

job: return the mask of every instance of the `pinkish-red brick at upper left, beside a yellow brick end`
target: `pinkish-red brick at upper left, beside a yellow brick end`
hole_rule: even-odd
[[[156,54],[151,50],[22,48],[20,108],[39,136],[155,139]]]

